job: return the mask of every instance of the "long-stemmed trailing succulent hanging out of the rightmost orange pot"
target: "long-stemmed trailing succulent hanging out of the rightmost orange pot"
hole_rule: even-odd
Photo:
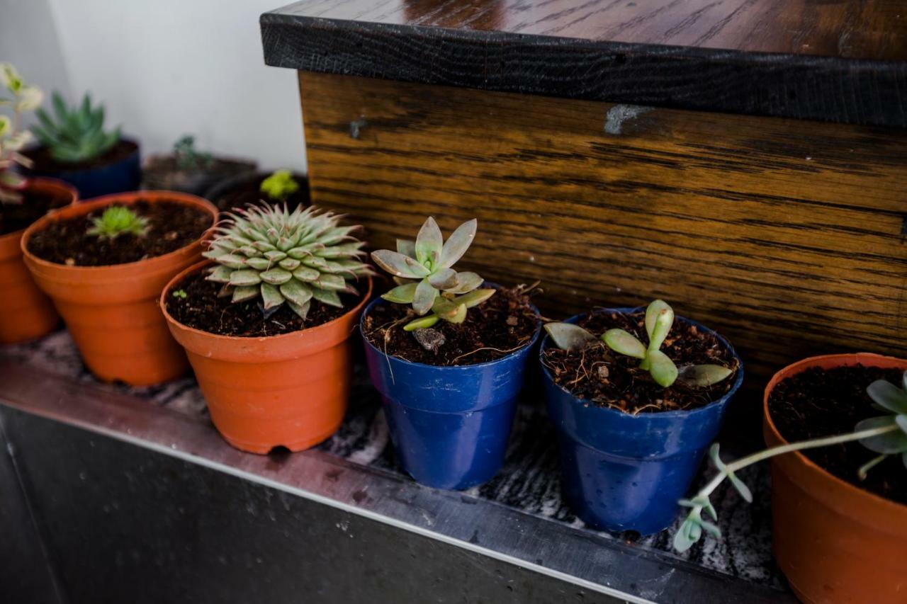
[[[878,456],[873,457],[869,463],[863,464],[857,471],[860,480],[864,480],[866,472],[869,472],[878,463],[883,462],[889,455],[901,455],[902,463],[907,467],[907,372],[904,372],[900,386],[893,385],[885,380],[876,380],[866,388],[866,394],[873,399],[873,407],[889,413],[864,419],[856,424],[851,434],[838,434],[799,443],[784,444],[747,455],[736,462],[727,464],[721,461],[718,455],[718,443],[714,443],[708,452],[708,456],[717,468],[718,473],[715,478],[696,493],[695,497],[688,500],[682,499],[678,502],[681,506],[691,509],[687,519],[683,521],[674,536],[674,549],[678,551],[688,550],[694,543],[699,541],[703,532],[714,537],[720,537],[721,531],[718,527],[702,518],[702,512],[705,511],[712,520],[717,521],[718,519],[717,511],[712,502],[709,501],[709,496],[727,478],[746,502],[752,502],[752,492],[743,481],[737,478],[735,472],[775,455],[860,441],[869,450],[879,453]]]

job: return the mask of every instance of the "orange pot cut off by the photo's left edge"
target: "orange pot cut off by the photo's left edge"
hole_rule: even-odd
[[[28,189],[59,197],[60,206],[73,204],[78,198],[78,192],[62,180],[32,179]],[[34,285],[22,261],[24,232],[0,235],[0,344],[46,336],[60,323],[50,298]]]

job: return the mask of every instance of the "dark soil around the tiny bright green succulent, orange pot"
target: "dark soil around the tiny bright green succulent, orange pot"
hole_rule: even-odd
[[[76,267],[137,262],[188,246],[212,222],[208,212],[175,201],[138,200],[128,207],[148,219],[149,229],[144,236],[124,234],[115,239],[101,239],[86,234],[92,220],[106,209],[100,208],[72,219],[51,221],[46,229],[28,240],[28,251],[49,262]]]

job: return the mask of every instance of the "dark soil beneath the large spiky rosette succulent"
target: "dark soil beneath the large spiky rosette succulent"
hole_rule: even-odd
[[[208,281],[208,269],[190,273],[175,287],[167,298],[167,312],[184,326],[207,331],[218,336],[280,336],[314,327],[345,315],[362,300],[362,296],[340,294],[344,307],[331,307],[312,300],[308,317],[303,321],[284,304],[265,318],[258,298],[247,302],[230,302],[229,296],[218,297],[220,284]],[[173,292],[186,292],[186,297],[173,296]]]

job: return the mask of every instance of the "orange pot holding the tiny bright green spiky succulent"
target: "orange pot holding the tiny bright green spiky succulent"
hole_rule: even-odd
[[[169,254],[105,267],[70,267],[37,258],[28,251],[34,233],[52,221],[72,219],[113,203],[171,200],[202,209],[217,220],[210,202],[173,191],[117,193],[60,209],[25,229],[25,265],[38,287],[54,300],[85,365],[105,382],[129,385],[165,382],[186,372],[182,348],[173,341],[158,308],[161,289],[183,268],[201,258],[201,241]]]

